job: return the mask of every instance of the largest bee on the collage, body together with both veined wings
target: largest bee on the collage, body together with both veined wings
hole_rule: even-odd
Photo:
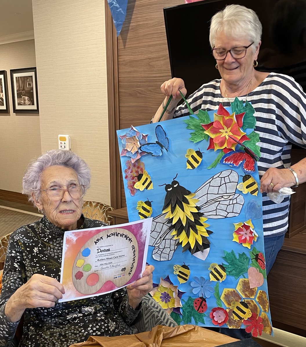
[[[182,246],[184,242],[184,245],[188,247],[189,238],[187,234],[191,231],[187,228],[190,225],[193,227],[192,230],[196,229],[196,226],[201,227],[199,226],[201,224],[200,217],[203,221],[206,218],[227,218],[239,215],[244,204],[244,198],[241,194],[236,193],[238,178],[237,172],[233,170],[221,171],[196,189],[192,194],[193,198],[188,195],[190,192],[180,186],[177,181],[173,181],[171,185],[166,186],[164,208],[167,208],[167,212],[158,215],[152,221],[149,245],[154,247],[153,259],[158,261],[170,260],[178,247],[177,238],[181,240]],[[195,214],[190,213],[190,210],[195,211]],[[190,217],[187,217],[188,215]],[[203,223],[201,225],[203,226]],[[210,231],[207,231],[208,235],[210,233]],[[195,235],[194,232],[191,234]],[[197,232],[196,237],[201,242],[202,237]],[[204,242],[202,239],[200,249],[202,246],[203,251],[194,253],[194,256],[205,260],[209,253],[207,238],[204,239]]]

